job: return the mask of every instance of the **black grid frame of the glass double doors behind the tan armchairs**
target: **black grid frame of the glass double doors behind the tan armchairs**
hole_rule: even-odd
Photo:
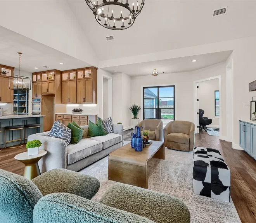
[[[173,87],[173,97],[159,97],[159,88],[164,88],[164,87]],[[149,109],[156,109],[156,116],[158,118],[152,118],[152,119],[158,119],[160,120],[161,119],[161,112],[158,112],[159,109],[159,98],[162,99],[162,98],[173,98],[173,119],[166,119],[166,120],[173,120],[175,121],[175,117],[176,117],[176,113],[175,113],[175,85],[166,85],[166,86],[150,86],[150,87],[143,87],[143,106],[142,106],[142,109],[143,109],[143,120],[145,119],[145,95],[144,95],[144,92],[145,92],[145,89],[149,89],[149,88],[157,88],[157,97],[156,98],[146,98],[146,99],[157,99],[157,108],[149,108]],[[159,115],[160,114],[160,115]],[[160,117],[160,118],[159,118]],[[148,119],[148,118],[146,118]]]

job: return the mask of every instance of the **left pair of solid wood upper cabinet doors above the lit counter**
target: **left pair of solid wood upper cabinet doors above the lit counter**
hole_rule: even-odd
[[[62,104],[76,104],[76,80],[62,82]]]

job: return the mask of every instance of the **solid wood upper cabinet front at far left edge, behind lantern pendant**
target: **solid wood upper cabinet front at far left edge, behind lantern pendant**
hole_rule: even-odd
[[[0,103],[13,103],[13,90],[9,89],[9,77],[0,75]]]

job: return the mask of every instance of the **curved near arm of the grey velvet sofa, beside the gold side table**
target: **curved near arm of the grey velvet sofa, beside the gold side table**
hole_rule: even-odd
[[[47,136],[45,136],[47,134]],[[46,150],[47,154],[38,162],[41,173],[63,168],[67,165],[67,144],[64,140],[48,136],[48,133],[37,133],[28,136],[28,141],[40,140],[40,150]]]

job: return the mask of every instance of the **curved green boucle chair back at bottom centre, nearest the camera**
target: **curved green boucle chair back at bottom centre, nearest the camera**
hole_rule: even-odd
[[[67,193],[42,197],[33,210],[33,223],[154,223],[136,214]]]

